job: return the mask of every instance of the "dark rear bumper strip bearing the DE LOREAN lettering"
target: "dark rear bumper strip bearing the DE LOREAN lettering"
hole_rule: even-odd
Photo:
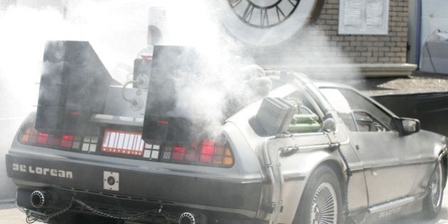
[[[105,191],[110,194],[163,200],[167,203],[171,201],[254,211],[258,209],[262,188],[262,182],[244,183],[193,176],[151,174],[135,171],[132,166],[129,166],[129,169],[118,169],[11,155],[6,155],[6,168],[11,178],[68,186],[80,191]],[[34,174],[29,172],[30,169]],[[52,175],[53,170],[54,174],[58,175]],[[105,190],[106,171],[119,174],[117,191]],[[65,175],[60,175],[62,172]]]

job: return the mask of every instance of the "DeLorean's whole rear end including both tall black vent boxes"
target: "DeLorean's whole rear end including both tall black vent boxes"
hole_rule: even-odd
[[[212,134],[176,108],[175,82],[200,72],[197,57],[156,46],[152,63],[136,60],[134,80],[115,86],[88,42],[47,43],[37,111],[6,155],[28,219],[254,220],[263,185],[254,150],[235,124]]]

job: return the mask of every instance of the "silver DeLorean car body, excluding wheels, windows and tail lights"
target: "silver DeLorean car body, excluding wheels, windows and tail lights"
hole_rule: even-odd
[[[364,96],[345,85],[314,84],[301,77],[300,83],[282,85],[272,90],[269,97],[287,97],[302,91],[322,120],[329,115],[334,118],[335,128],[331,131],[319,129],[316,132],[260,136],[248,122],[259,110],[262,100],[258,100],[223,124],[235,158],[234,166],[228,169],[62,151],[22,144],[16,137],[6,156],[7,171],[18,188],[59,186],[78,193],[100,192],[98,194],[104,196],[101,192],[105,192],[113,196],[135,197],[139,196],[135,185],[143,184],[150,190],[142,198],[154,198],[155,203],[161,205],[168,203],[184,210],[238,214],[266,223],[292,223],[302,196],[309,193],[304,192],[309,176],[316,167],[329,166],[341,182],[343,204],[347,208],[343,210],[344,215],[357,223],[420,210],[438,159],[444,164],[444,174],[447,174],[444,156],[447,139],[423,130],[413,134],[402,134],[396,130],[353,132],[321,90],[343,89]],[[365,99],[392,119],[399,119],[374,100]],[[33,115],[29,119],[32,121]],[[107,124],[112,121],[101,122]],[[142,126],[142,123],[134,125]],[[73,179],[36,176],[14,169],[14,164],[65,167],[73,171]],[[85,173],[82,167],[87,166],[95,166],[99,171]],[[120,189],[116,192],[102,189],[99,185],[102,183],[100,171],[111,169],[120,174]],[[126,183],[133,178],[125,176],[136,176],[142,182]],[[154,183],[146,185],[146,176],[151,176]],[[179,183],[191,188],[182,189],[172,183],[182,180],[185,182]],[[197,180],[204,182],[200,184]],[[203,186],[210,183],[222,186],[220,192],[204,190]],[[169,190],[164,191],[166,188]]]

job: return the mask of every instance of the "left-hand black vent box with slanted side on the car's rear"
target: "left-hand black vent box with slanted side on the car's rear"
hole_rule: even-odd
[[[48,41],[43,54],[36,129],[79,133],[92,113],[102,113],[107,87],[116,83],[86,41]]]

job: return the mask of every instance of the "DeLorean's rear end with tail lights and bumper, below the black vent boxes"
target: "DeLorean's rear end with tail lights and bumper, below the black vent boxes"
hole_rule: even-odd
[[[153,223],[191,213],[197,223],[226,223],[257,215],[259,166],[233,124],[217,139],[184,146],[144,142],[142,127],[101,119],[82,136],[48,134],[34,128],[35,116],[6,155],[17,205],[30,217],[62,211]]]

